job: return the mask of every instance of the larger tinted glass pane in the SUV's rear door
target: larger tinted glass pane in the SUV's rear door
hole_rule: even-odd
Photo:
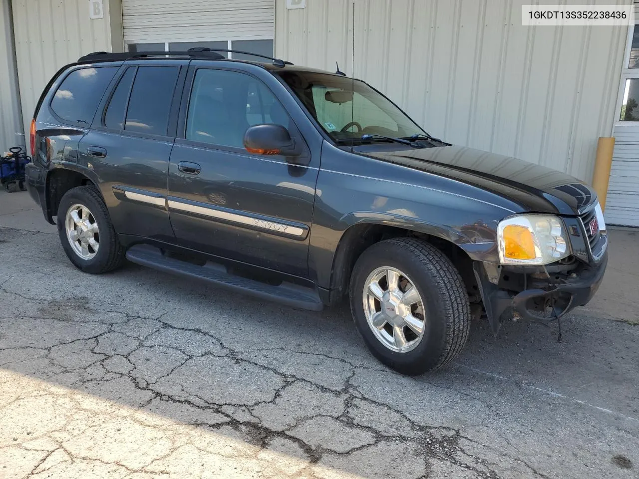
[[[166,135],[177,79],[176,66],[139,67],[128,101],[124,129],[130,132]]]

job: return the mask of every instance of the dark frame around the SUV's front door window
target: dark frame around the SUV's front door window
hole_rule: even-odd
[[[182,144],[185,146],[190,146],[192,148],[205,148],[205,149],[210,149],[212,151],[226,151],[228,153],[236,153],[238,155],[250,156],[252,158],[258,158],[260,160],[270,160],[270,161],[274,160],[277,162],[286,162],[285,160],[286,156],[283,156],[283,155],[270,155],[268,156],[268,158],[265,158],[264,155],[249,153],[249,151],[247,151],[245,148],[238,148],[236,146],[228,146],[228,145],[222,145],[217,143],[187,139],[186,137],[187,118],[189,117],[190,98],[191,98],[191,93],[193,91],[197,70],[214,70],[217,72],[238,73],[240,75],[247,75],[251,77],[252,79],[254,79],[256,82],[261,83],[268,91],[270,91],[270,93],[275,98],[275,101],[279,102],[281,107],[284,109],[284,111],[286,111],[286,114],[288,115],[290,120],[288,131],[291,134],[291,137],[295,139],[296,142],[300,142],[300,144],[302,144],[303,153],[302,155],[300,155],[300,158],[305,158],[307,156],[310,158],[311,153],[307,145],[307,142],[304,139],[304,135],[302,135],[300,127],[296,124],[293,115],[286,108],[286,105],[284,105],[284,102],[282,102],[281,98],[279,98],[277,93],[275,93],[275,91],[273,91],[273,89],[270,86],[268,86],[268,83],[265,82],[263,79],[259,78],[258,75],[254,75],[253,73],[248,72],[247,70],[243,70],[240,68],[233,68],[232,66],[224,66],[224,65],[190,65],[189,66],[189,72],[187,73],[187,78],[184,82],[183,91],[181,95],[180,114],[178,118],[178,129],[177,129],[176,137],[175,137],[176,144]]]

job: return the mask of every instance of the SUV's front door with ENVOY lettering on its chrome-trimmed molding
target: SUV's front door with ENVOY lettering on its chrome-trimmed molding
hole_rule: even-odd
[[[185,247],[306,277],[319,158],[271,87],[238,70],[191,63],[169,165],[171,224]],[[260,123],[286,127],[308,165],[243,148]]]

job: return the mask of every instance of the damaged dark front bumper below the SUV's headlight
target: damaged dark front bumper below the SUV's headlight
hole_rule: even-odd
[[[473,268],[491,330],[497,333],[507,319],[550,324],[585,305],[599,289],[607,263],[605,252],[592,264],[509,267],[475,261]]]

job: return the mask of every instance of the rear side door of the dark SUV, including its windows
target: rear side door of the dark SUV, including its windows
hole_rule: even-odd
[[[173,241],[169,155],[187,60],[127,62],[80,144],[79,168],[99,181],[120,234]]]

